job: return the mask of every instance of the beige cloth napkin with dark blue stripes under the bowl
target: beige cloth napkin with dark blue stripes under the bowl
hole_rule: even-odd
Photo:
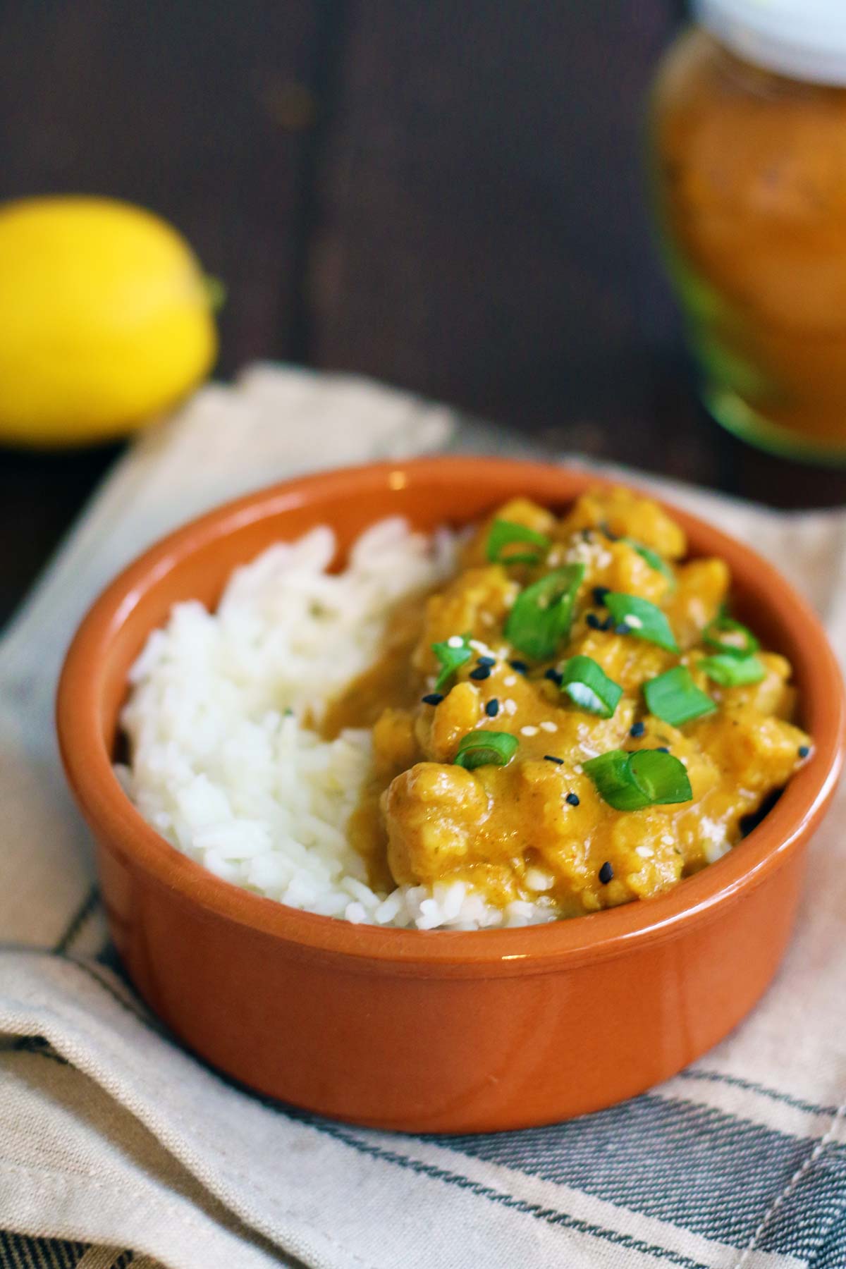
[[[123,978],[52,730],[84,609],[225,497],[436,449],[529,452],[360,379],[256,367],[209,387],[118,464],[0,643],[4,1269],[846,1266],[842,797],[751,1018],[676,1079],[571,1123],[438,1138],[294,1112],[198,1062]],[[846,654],[843,514],[661,487],[772,557]]]

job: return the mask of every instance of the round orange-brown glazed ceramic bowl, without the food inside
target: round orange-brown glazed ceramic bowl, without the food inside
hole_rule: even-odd
[[[379,1128],[549,1123],[667,1079],[770,982],[805,846],[843,755],[840,671],[814,614],[739,542],[672,510],[694,555],[732,569],[739,615],[790,657],[813,756],[734,850],[658,898],[528,929],[381,929],[296,911],[219,881],[160,838],[112,772],[127,670],[171,604],[213,605],[236,565],[331,524],[464,524],[514,494],[563,508],[583,472],[485,458],[336,471],[263,490],[147,551],[95,603],[67,655],[58,735],[98,844],[109,925],[141,995],[244,1084]],[[813,884],[813,879],[812,879]]]

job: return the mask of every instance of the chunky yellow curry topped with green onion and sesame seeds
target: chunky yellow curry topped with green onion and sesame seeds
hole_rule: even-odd
[[[511,539],[498,549],[495,528]],[[330,735],[373,727],[374,775],[349,831],[374,884],[460,879],[497,906],[520,898],[575,916],[666,891],[739,840],[743,817],[784,786],[810,741],[789,721],[789,662],[722,615],[727,565],[685,555],[679,525],[623,489],[589,492],[561,519],[515,499],[478,528],[443,589],[393,614],[381,661],[325,725]],[[531,656],[533,632],[515,614],[553,572],[569,582],[563,602],[552,595],[572,604],[569,629]],[[620,621],[620,607],[641,617]],[[542,596],[535,619],[548,613]],[[649,631],[665,618],[656,642]],[[449,671],[443,657],[463,660]],[[599,698],[562,684],[573,667],[605,684]],[[467,737],[504,753],[477,751],[468,769]],[[653,756],[630,759],[643,750]],[[623,792],[614,770],[591,763],[609,753]],[[647,794],[629,766],[654,775]],[[632,797],[635,808],[611,805]]]

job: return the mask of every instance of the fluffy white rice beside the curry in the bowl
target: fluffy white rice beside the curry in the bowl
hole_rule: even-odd
[[[421,930],[550,920],[543,896],[500,910],[458,881],[368,886],[346,824],[370,732],[326,741],[308,723],[373,664],[393,604],[454,569],[455,538],[389,519],[361,534],[340,574],[327,572],[334,555],[331,529],[317,528],[237,569],[216,613],[175,605],[129,674],[127,793],[178,850],[292,907]]]

